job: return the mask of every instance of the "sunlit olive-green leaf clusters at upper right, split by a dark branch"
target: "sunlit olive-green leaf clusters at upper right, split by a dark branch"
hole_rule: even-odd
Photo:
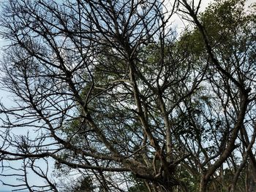
[[[248,43],[255,41],[255,9],[246,12],[244,0],[215,1],[199,16],[214,52],[229,58],[233,51],[243,53]],[[181,37],[183,44],[196,57],[206,54],[203,37],[197,28],[187,30]]]

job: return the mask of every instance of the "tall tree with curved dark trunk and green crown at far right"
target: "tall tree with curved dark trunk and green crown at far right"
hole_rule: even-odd
[[[211,83],[215,84],[214,86],[216,88],[214,88],[214,92],[217,92],[216,96],[219,97],[222,103],[220,105],[222,105],[222,109],[224,110],[223,113],[221,112],[218,116],[220,118],[223,114],[225,117],[222,118],[223,120],[216,122],[215,126],[216,128],[220,128],[220,126],[226,128],[226,133],[222,133],[223,131],[219,130],[220,133],[222,133],[222,139],[219,139],[219,141],[221,141],[219,147],[224,147],[223,145],[225,145],[225,148],[218,149],[219,152],[217,154],[219,158],[212,156],[213,158],[217,158],[217,161],[215,161],[214,164],[210,164],[205,173],[203,173],[201,177],[201,191],[205,191],[203,188],[206,188],[206,183],[208,183],[209,178],[213,176],[214,172],[219,169],[221,164],[227,161],[228,155],[233,153],[233,147],[238,147],[236,144],[239,131],[241,133],[241,144],[244,145],[244,152],[242,152],[241,156],[244,156],[244,158],[238,170],[236,170],[233,183],[230,184],[232,185],[231,191],[235,190],[238,174],[240,174],[241,170],[244,168],[248,156],[251,163],[255,162],[255,155],[252,155],[252,146],[255,142],[255,134],[253,131],[255,129],[253,123],[254,118],[250,115],[249,117],[246,116],[248,115],[247,112],[254,108],[254,104],[250,101],[250,98],[254,98],[254,94],[251,92],[250,87],[254,86],[255,82],[255,74],[252,67],[252,65],[254,65],[252,58],[255,57],[255,31],[252,29],[255,26],[255,13],[253,12],[252,15],[247,15],[244,10],[244,3],[245,1],[219,1],[209,7],[200,18],[197,18],[193,9],[190,9],[187,2],[184,2],[184,7],[187,7],[189,15],[197,26],[197,30],[192,35],[192,41],[197,45],[197,53],[198,51],[203,54],[208,53],[212,64],[219,70],[220,75],[225,77],[224,82],[222,82],[219,77],[214,80],[214,76],[212,76],[212,80],[210,80]],[[203,49],[200,47],[202,42],[205,45]],[[216,83],[223,86],[223,88],[217,86]],[[241,93],[242,89],[244,89],[244,93]],[[246,93],[246,91],[248,93]],[[243,112],[241,108],[241,101],[243,101],[241,96],[243,94],[244,96],[246,96],[246,94],[248,95],[244,98],[248,99],[248,101],[244,103],[246,104],[244,105],[244,107],[246,107],[244,108],[244,115],[241,113]],[[227,112],[227,110],[230,111]],[[237,118],[231,115],[233,112],[236,113]],[[243,123],[243,120],[239,126],[239,118],[243,116],[246,123],[251,123]],[[225,121],[227,124],[224,123]],[[219,123],[224,123],[224,125],[220,125]],[[230,127],[231,124],[233,126]],[[229,136],[226,135],[227,133]],[[248,135],[250,136],[248,137]],[[225,137],[227,137],[227,139],[225,139]],[[249,138],[251,139],[250,141]],[[217,143],[216,141],[215,145]],[[211,156],[206,156],[206,159],[207,158],[212,160]]]

